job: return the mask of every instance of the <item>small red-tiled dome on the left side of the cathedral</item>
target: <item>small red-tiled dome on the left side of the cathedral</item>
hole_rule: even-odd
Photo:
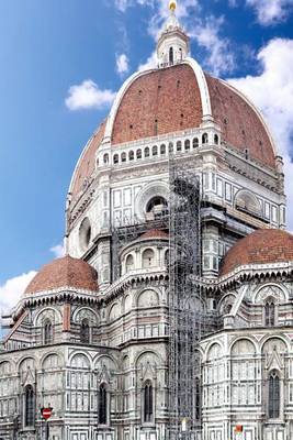
[[[95,270],[87,262],[69,255],[45,264],[26,287],[24,294],[53,290],[60,287],[98,290]]]

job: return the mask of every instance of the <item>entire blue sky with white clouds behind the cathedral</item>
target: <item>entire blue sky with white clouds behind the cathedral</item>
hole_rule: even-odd
[[[154,63],[167,4],[1,0],[0,297],[14,298],[32,271],[58,254],[52,248],[63,240],[74,166],[123,80]],[[178,0],[192,56],[263,110],[289,172],[292,12],[293,0]]]

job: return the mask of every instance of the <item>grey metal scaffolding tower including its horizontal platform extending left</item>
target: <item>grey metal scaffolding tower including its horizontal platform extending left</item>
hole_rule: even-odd
[[[123,246],[149,229],[169,231],[169,440],[201,439],[201,355],[211,326],[202,294],[201,177],[169,156],[168,211],[112,227],[112,282],[119,279]],[[115,223],[115,222],[114,222]]]

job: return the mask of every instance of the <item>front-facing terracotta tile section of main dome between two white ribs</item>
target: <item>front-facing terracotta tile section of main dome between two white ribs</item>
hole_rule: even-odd
[[[201,122],[201,95],[192,68],[182,64],[153,70],[138,77],[122,98],[112,144],[192,129]]]

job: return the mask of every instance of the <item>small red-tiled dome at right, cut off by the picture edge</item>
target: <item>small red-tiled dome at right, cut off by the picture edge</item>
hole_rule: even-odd
[[[293,235],[281,229],[259,229],[237,241],[224,257],[219,275],[248,264],[293,261]]]

